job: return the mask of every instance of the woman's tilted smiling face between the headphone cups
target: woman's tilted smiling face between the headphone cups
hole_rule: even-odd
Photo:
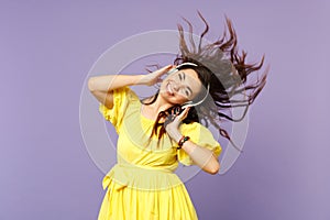
[[[161,85],[160,96],[173,105],[193,100],[201,89],[201,82],[194,69],[187,68],[168,75]]]

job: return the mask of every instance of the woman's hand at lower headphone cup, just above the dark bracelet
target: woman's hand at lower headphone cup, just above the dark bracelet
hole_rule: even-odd
[[[190,107],[186,108],[182,113],[179,113],[178,116],[176,114],[169,114],[164,122],[164,127],[166,130],[166,133],[176,142],[179,141],[179,139],[182,138],[182,134],[178,130],[182,121],[188,116],[188,111],[189,111]]]

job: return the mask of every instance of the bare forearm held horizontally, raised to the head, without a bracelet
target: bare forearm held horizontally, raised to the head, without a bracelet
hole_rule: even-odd
[[[139,85],[143,75],[103,75],[94,76],[88,80],[90,91],[108,92],[124,86]]]

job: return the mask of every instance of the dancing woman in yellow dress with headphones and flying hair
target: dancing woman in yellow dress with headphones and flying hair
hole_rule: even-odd
[[[258,65],[245,64],[246,53],[239,55],[237,51],[231,21],[227,19],[229,40],[224,32],[221,40],[202,44],[209,26],[199,15],[206,30],[198,45],[189,37],[188,46],[183,26],[178,25],[180,54],[174,65],[146,75],[95,76],[88,81],[89,90],[100,102],[99,111],[119,134],[118,163],[102,182],[103,189],[108,189],[99,220],[198,219],[185,185],[174,170],[180,162],[217,174],[222,148],[208,124],[231,141],[220,121],[240,121],[246,111],[241,119],[233,119],[226,110],[242,106],[248,109],[265,85],[266,74],[246,85],[248,76],[262,67],[264,57]],[[191,24],[186,22],[193,36]],[[157,82],[157,92],[144,100],[130,88]],[[246,91],[251,91],[249,96]],[[238,94],[248,99],[231,99]]]

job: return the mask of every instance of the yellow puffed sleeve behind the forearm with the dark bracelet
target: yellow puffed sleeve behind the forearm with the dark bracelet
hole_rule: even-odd
[[[216,157],[218,158],[221,154],[222,147],[219,142],[215,140],[210,130],[198,122],[193,122],[190,124],[182,124],[180,132],[183,135],[187,135],[190,138],[190,141],[195,144],[211,150]],[[185,152],[185,150],[180,148],[177,151],[178,161],[186,165],[193,165],[193,160]]]

